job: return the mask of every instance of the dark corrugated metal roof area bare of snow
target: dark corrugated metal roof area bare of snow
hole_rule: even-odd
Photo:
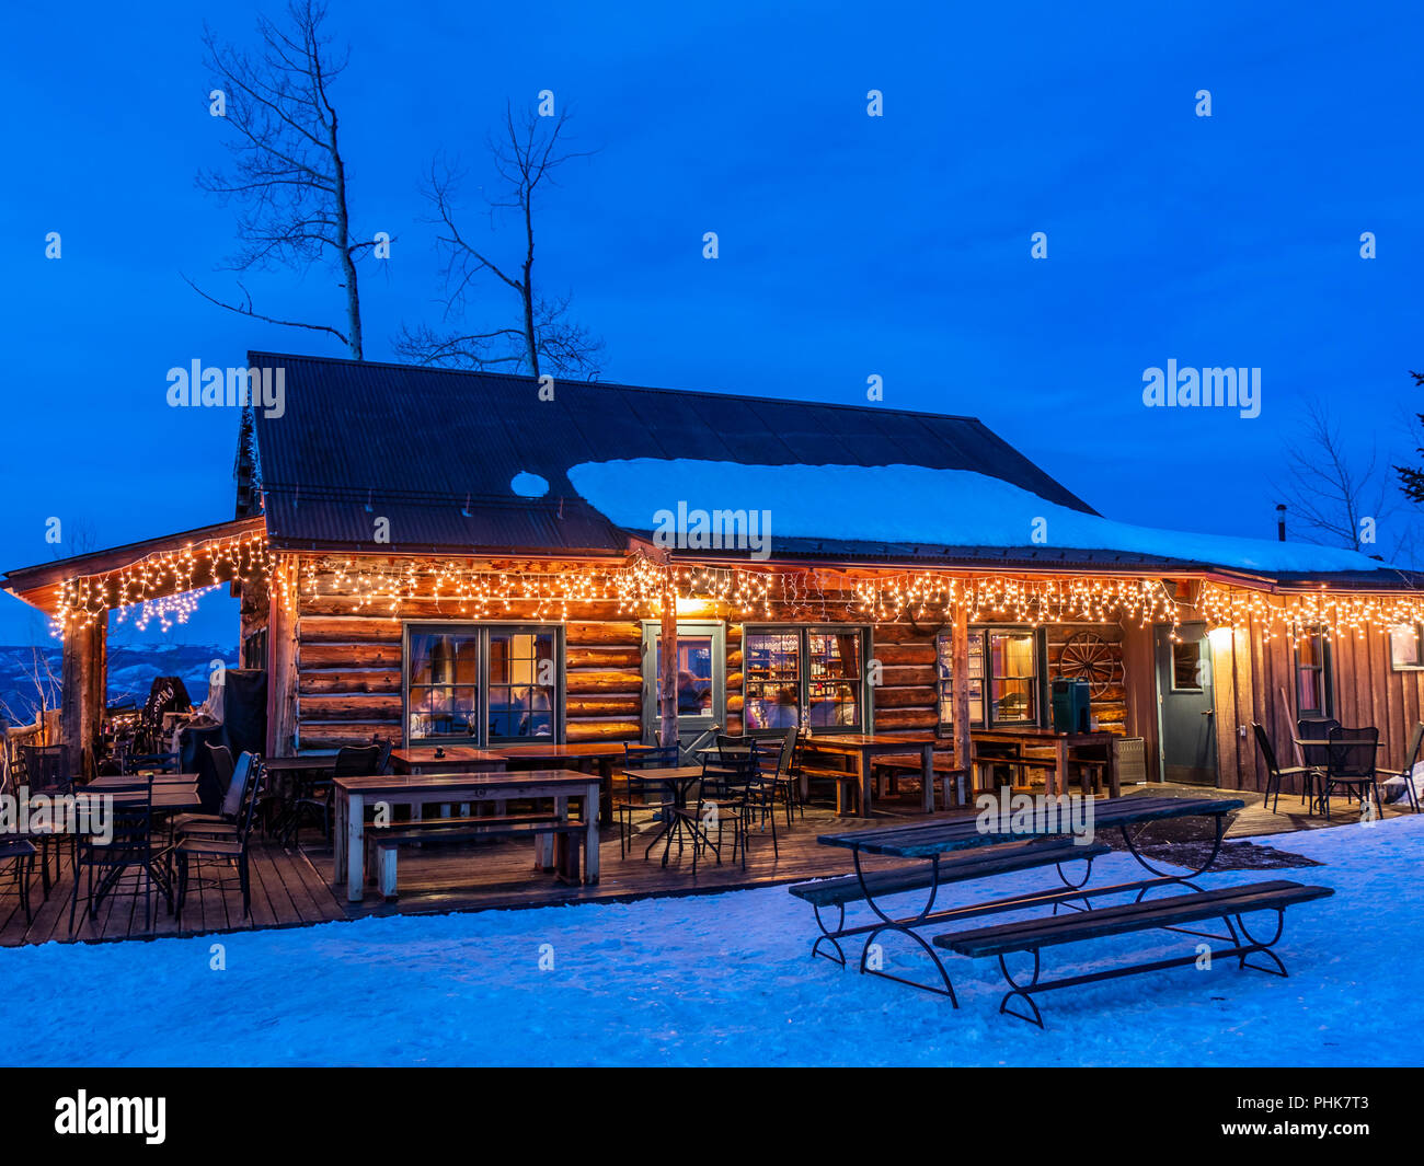
[[[1095,513],[973,417],[584,382],[555,382],[550,401],[501,373],[265,352],[249,364],[285,370],[283,414],[256,413],[279,547],[621,551],[627,534],[568,470],[634,457],[973,470]],[[548,495],[514,495],[520,471]],[[375,541],[379,517],[389,544]]]

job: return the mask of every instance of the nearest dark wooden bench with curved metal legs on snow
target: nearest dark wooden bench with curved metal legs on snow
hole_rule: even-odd
[[[1202,954],[1193,950],[1190,955],[1112,967],[1082,975],[1071,975],[1064,979],[1040,981],[1040,952],[1045,947],[1165,928],[1226,942],[1227,947],[1210,951],[1210,958],[1213,960],[1235,957],[1240,968],[1253,968],[1255,971],[1283,977],[1286,975],[1286,967],[1270,948],[1280,940],[1284,928],[1286,907],[1296,903],[1309,903],[1314,898],[1326,898],[1331,894],[1334,891],[1330,887],[1307,887],[1284,880],[1247,883],[1240,887],[1222,887],[1219,890],[1193,891],[1155,901],[1145,900],[1128,903],[1121,907],[1104,907],[1082,914],[1051,915],[1048,918],[1024,920],[1000,924],[998,927],[981,927],[973,931],[936,935],[934,945],[948,948],[958,955],[970,958],[998,957],[1000,971],[1002,971],[1004,979],[1010,985],[1010,991],[1000,1001],[1000,1014],[1007,1012],[1011,1017],[1018,1017],[1042,1028],[1042,1014],[1034,1002],[1035,992],[1049,992],[1058,988],[1072,988],[1078,984],[1094,984],[1102,979],[1116,979],[1125,975],[1138,975],[1165,968],[1180,968],[1195,964],[1202,958]],[[1276,911],[1276,931],[1266,941],[1253,938],[1242,921],[1243,914],[1255,911]],[[1183,924],[1216,918],[1226,924],[1227,935],[1209,935],[1183,927]],[[1034,967],[1027,984],[1018,984],[1004,961],[1005,955],[1014,952],[1032,952],[1034,955]],[[1274,967],[1247,962],[1247,958],[1256,954],[1269,958]],[[1010,1002],[1015,998],[1022,999],[1032,1009],[1032,1015],[1025,1015],[1010,1008]]]

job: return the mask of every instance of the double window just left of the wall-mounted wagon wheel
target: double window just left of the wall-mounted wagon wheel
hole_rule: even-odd
[[[954,655],[948,632],[940,634],[936,656],[940,728],[947,729],[954,723]],[[970,628],[970,723],[1038,725],[1042,656],[1044,642],[1038,632]]]

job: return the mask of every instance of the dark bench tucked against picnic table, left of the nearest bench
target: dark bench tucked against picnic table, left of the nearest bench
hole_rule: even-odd
[[[889,870],[863,871],[859,876],[842,874],[836,878],[819,878],[815,883],[797,883],[787,887],[787,890],[796,898],[809,903],[816,913],[816,925],[820,927],[822,934],[812,945],[812,957],[824,955],[827,960],[844,967],[846,952],[840,947],[840,940],[849,935],[864,935],[880,931],[890,925],[880,918],[876,923],[846,927],[846,905],[850,903],[870,903],[873,910],[879,910],[874,900],[883,895],[930,888],[937,891],[938,887],[950,883],[967,883],[973,878],[988,878],[994,874],[1010,874],[1012,871],[1059,866],[1062,863],[1087,861],[1091,871],[1092,860],[1109,853],[1109,850],[1111,847],[1102,843],[1078,846],[1071,839],[1030,839],[1021,843],[1002,843],[987,846],[981,850],[967,850],[950,858],[940,858],[937,863],[916,863],[914,866],[891,867]],[[1084,881],[1087,881],[1087,874],[1077,886],[1081,887]],[[893,925],[897,930],[910,931],[911,928],[947,923],[954,918],[993,914],[994,911],[1011,911],[1024,907],[1025,903],[1032,905],[1084,897],[1084,891],[1068,884],[1067,878],[1064,878],[1064,884],[1068,890],[1049,891],[1041,895],[1015,895],[1011,900],[997,900],[974,907],[951,907],[941,911],[933,911],[934,897],[931,895],[926,911],[914,918],[900,920]],[[822,915],[822,910],[830,907],[839,911],[833,927],[827,927],[826,918]],[[822,944],[827,941],[834,948],[834,954],[829,950],[822,951]],[[869,950],[869,941],[866,947]],[[933,952],[928,954],[933,957]],[[862,971],[864,971],[864,952],[862,952],[860,962]],[[943,968],[940,971],[943,974]],[[926,985],[921,984],[917,987]],[[931,988],[930,991],[937,989]]]

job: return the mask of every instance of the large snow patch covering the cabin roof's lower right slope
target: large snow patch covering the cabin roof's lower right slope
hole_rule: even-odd
[[[769,511],[782,538],[941,547],[1071,547],[1173,558],[1260,572],[1380,571],[1356,551],[1306,542],[1136,527],[1049,503],[1000,478],[923,466],[745,466],[638,457],[585,461],[574,488],[609,521],[658,527],[661,510]],[[773,550],[775,554],[775,550]]]

